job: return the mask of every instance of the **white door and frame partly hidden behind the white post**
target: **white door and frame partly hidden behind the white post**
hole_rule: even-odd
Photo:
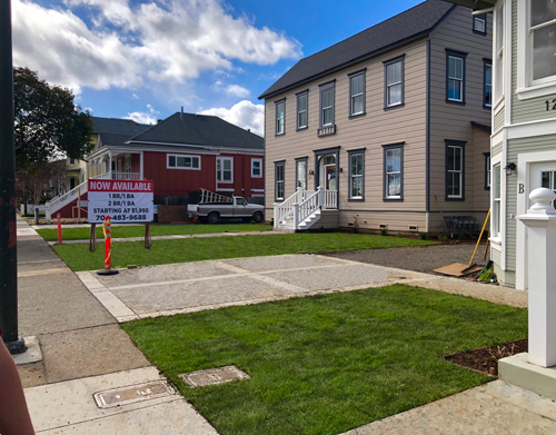
[[[518,157],[517,216],[525,215],[532,206],[529,194],[547,187],[556,190],[556,151],[532,152]],[[527,231],[525,225],[516,225],[516,288],[528,289]]]

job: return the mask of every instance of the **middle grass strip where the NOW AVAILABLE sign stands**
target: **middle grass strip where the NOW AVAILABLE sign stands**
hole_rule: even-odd
[[[112,233],[117,237],[116,231]],[[317,254],[354,249],[426,246],[435,243],[400,237],[357,234],[285,234],[271,236],[235,236],[153,240],[151,249],[142,241],[112,244],[112,268],[165,265],[209,259],[256,257],[281,254]],[[88,244],[56,245],[56,253],[75,271],[103,268],[105,248],[89,251]]]

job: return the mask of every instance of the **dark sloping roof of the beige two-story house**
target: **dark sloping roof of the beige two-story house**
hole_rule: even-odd
[[[335,46],[301,59],[259,99],[314,80],[429,33],[455,8],[444,0],[428,0]]]

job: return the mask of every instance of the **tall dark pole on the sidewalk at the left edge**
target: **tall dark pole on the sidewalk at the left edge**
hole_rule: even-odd
[[[0,327],[12,354],[26,350],[18,336],[18,240],[10,0],[0,0]]]

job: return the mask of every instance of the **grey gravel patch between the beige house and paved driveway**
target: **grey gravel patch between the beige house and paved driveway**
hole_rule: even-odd
[[[451,265],[453,263],[469,264],[475,244],[476,243],[455,243],[454,245],[361,249],[325,255],[371,265],[439,275],[433,270],[438,267]],[[483,243],[477,248],[474,263],[479,266],[485,266],[488,256],[487,260],[483,260],[484,255],[485,244]],[[473,277],[473,275],[470,275],[470,277]]]

